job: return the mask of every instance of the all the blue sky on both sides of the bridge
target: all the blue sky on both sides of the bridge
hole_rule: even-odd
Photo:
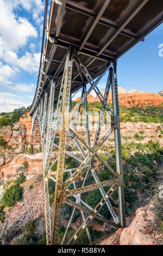
[[[1,113],[27,107],[33,101],[40,62],[44,1],[0,0],[0,6]],[[159,45],[163,46],[162,30],[163,25],[118,60],[118,86],[154,93],[163,89],[163,57],[158,54]],[[99,84],[101,90],[105,82],[106,76]]]

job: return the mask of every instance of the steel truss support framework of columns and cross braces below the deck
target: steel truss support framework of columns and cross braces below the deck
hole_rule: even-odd
[[[82,95],[80,100],[73,106],[71,95],[72,66],[76,66],[76,76],[79,75],[83,81]],[[108,74],[108,80],[105,87],[104,95],[99,91],[98,82],[101,78]],[[87,78],[90,84],[87,89],[83,77]],[[58,99],[55,99],[55,90],[60,89]],[[112,93],[112,109],[107,103],[109,90]],[[97,124],[95,139],[91,145],[89,129],[90,114],[87,104],[87,96],[94,90],[102,102],[101,113]],[[85,120],[82,129],[79,129],[80,111],[85,109]],[[110,116],[110,124],[105,133],[101,131],[104,124],[104,116]],[[86,131],[86,141],[81,133]],[[100,155],[100,148],[111,133],[115,136],[115,153],[116,153],[116,172],[105,162]],[[41,144],[43,159],[43,178],[45,184],[45,217],[46,217],[46,236],[47,245],[58,244],[58,231],[60,225],[60,211],[62,204],[72,206],[72,214],[67,224],[61,244],[74,244],[79,237],[86,231],[88,242],[91,242],[91,234],[89,233],[89,224],[97,218],[101,222],[106,222],[110,227],[117,229],[125,227],[125,210],[124,210],[124,191],[123,191],[123,170],[122,170],[122,153],[121,153],[121,135],[120,135],[120,115],[118,106],[117,91],[117,74],[116,62],[109,63],[103,74],[93,81],[89,71],[77,57],[76,51],[70,48],[66,53],[63,62],[60,64],[58,74],[55,79],[51,80],[50,87],[43,94],[39,105],[33,114],[32,137],[31,144]],[[87,150],[84,150],[84,147]],[[52,161],[52,151],[58,151],[57,158]],[[73,153],[71,152],[73,149]],[[78,155],[76,154],[78,153]],[[66,169],[65,158],[71,156],[74,161],[78,162],[78,167]],[[101,182],[98,174],[93,169],[93,160],[98,159],[106,169],[110,170],[110,180]],[[54,164],[57,164],[57,170],[53,170]],[[69,177],[65,180],[65,173]],[[79,176],[84,175],[82,183],[79,187]],[[92,176],[94,182],[87,183],[87,177]],[[51,206],[49,205],[48,180],[55,182],[53,216],[51,216]],[[105,187],[105,190],[104,190]],[[108,191],[106,191],[108,187]],[[83,193],[91,190],[99,189],[101,192],[101,200],[94,209],[84,202]],[[115,191],[118,191],[118,212],[112,207],[110,198]],[[106,205],[110,211],[112,220],[108,220],[101,215],[100,210]],[[83,223],[76,230],[69,241],[67,240],[67,232],[70,228],[74,212],[80,211]]]

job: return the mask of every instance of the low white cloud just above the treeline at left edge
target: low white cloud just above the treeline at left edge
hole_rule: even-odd
[[[8,102],[8,103],[6,103]],[[15,108],[28,107],[29,105],[24,104],[21,100],[18,100],[18,96],[8,92],[0,92],[0,113],[11,112]]]

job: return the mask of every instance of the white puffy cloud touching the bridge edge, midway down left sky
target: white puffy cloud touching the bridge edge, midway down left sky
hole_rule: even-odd
[[[3,59],[12,66],[16,66],[30,73],[38,72],[39,70],[40,53],[26,52],[24,56],[18,58],[15,52],[5,51]]]

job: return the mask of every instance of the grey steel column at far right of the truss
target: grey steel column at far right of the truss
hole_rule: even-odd
[[[112,89],[112,107],[114,113],[114,133],[115,133],[115,152],[116,152],[116,169],[118,174],[118,202],[120,211],[121,227],[126,226],[125,218],[125,201],[123,188],[123,166],[122,166],[122,150],[121,150],[121,132],[120,132],[120,112],[118,104],[118,86],[116,62],[112,63],[111,70],[111,89]]]

